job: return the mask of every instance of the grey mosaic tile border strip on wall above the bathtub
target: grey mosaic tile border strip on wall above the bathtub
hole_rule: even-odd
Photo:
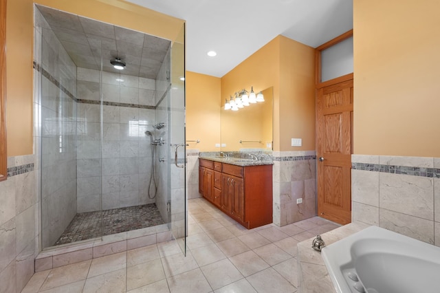
[[[421,167],[410,167],[410,166],[395,166],[395,165],[366,164],[366,163],[352,162],[351,169],[440,178],[440,169],[435,169],[435,168],[421,168]]]

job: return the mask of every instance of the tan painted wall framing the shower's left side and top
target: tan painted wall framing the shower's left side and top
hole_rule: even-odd
[[[36,3],[172,41],[184,21],[122,0],[37,0]],[[8,0],[6,31],[8,156],[33,153],[33,0]]]

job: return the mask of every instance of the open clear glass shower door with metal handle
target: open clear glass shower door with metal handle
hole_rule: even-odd
[[[185,26],[171,46],[170,56],[170,230],[186,254],[186,142],[185,142]]]

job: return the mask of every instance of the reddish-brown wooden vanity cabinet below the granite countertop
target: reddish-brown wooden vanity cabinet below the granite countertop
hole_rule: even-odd
[[[213,183],[207,179],[208,170],[214,172]],[[245,228],[272,223],[272,165],[236,166],[200,159],[199,191]]]

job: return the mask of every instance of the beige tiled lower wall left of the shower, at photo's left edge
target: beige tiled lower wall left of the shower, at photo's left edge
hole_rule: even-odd
[[[8,169],[34,164],[34,155],[8,158]],[[21,292],[34,274],[39,221],[36,171],[0,182],[0,291]]]

